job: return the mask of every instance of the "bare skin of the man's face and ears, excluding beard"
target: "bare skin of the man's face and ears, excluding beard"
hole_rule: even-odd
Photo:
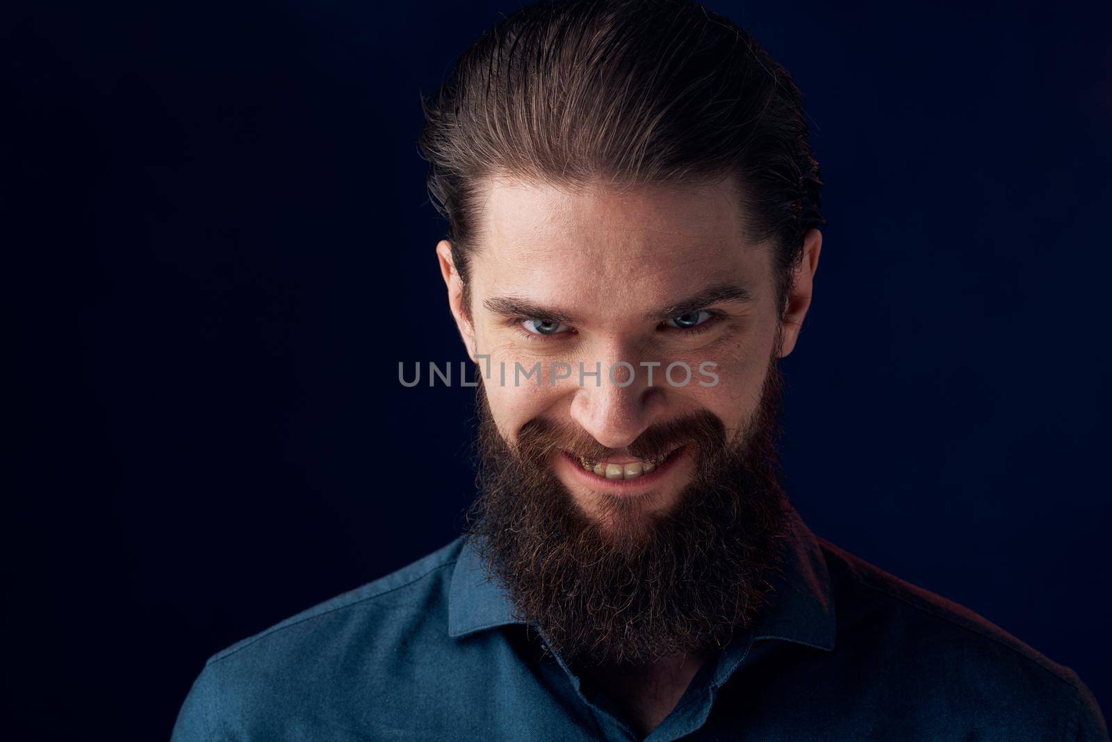
[[[485,184],[479,246],[470,258],[470,306],[450,245],[437,245],[441,275],[473,360],[493,374],[485,383],[500,435],[513,444],[524,425],[543,418],[590,436],[609,449],[604,464],[633,463],[628,446],[652,425],[709,410],[728,436],[753,416],[774,355],[795,347],[811,304],[822,235],[811,230],[783,306],[777,306],[771,247],[746,239],[742,206],[729,180],[697,187],[578,189],[495,178]],[[685,329],[686,326],[694,327]],[[775,345],[780,342],[780,347]],[[515,363],[544,376],[514,384]],[[572,376],[552,384],[555,362]],[[607,369],[632,364],[634,382],[610,383]],[[659,362],[654,384],[642,362]],[[684,362],[686,386],[664,369]],[[579,363],[603,374],[580,385]],[[717,384],[701,376],[709,366]],[[506,383],[498,382],[505,364]],[[628,380],[618,368],[615,380]],[[682,369],[673,376],[682,382]],[[646,513],[666,513],[692,479],[681,451],[661,471],[608,481],[577,458],[554,455],[550,466],[585,514],[609,517],[615,497]],[[628,511],[628,507],[625,508]]]

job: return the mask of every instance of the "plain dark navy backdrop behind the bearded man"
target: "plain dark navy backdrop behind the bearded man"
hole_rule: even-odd
[[[784,455],[812,528],[1105,711],[1112,53],[1094,3],[713,2],[827,182]],[[453,537],[470,390],[419,91],[510,4],[3,11],[8,700],[163,739],[203,660]]]

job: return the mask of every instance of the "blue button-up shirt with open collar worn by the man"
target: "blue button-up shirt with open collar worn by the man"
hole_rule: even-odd
[[[647,740],[1109,739],[1071,670],[794,514],[773,584]],[[456,540],[212,656],[173,742],[638,739],[540,641]]]

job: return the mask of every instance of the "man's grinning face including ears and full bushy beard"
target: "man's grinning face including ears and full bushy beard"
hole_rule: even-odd
[[[471,535],[570,662],[723,646],[762,605],[785,528],[776,358],[806,311],[818,233],[781,308],[768,248],[746,241],[725,184],[495,180],[480,201],[469,307],[437,246],[468,352],[489,357]],[[539,384],[515,377],[537,364]],[[580,380],[580,364],[600,377]]]

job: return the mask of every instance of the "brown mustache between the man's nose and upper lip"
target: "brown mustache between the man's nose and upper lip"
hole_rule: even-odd
[[[714,413],[699,410],[653,424],[625,451],[635,458],[658,463],[684,445],[692,445],[703,458],[726,455],[728,445],[725,425]],[[559,453],[599,462],[616,455],[618,449],[604,446],[574,423],[557,423],[537,417],[522,426],[515,453],[525,463],[543,464]]]

